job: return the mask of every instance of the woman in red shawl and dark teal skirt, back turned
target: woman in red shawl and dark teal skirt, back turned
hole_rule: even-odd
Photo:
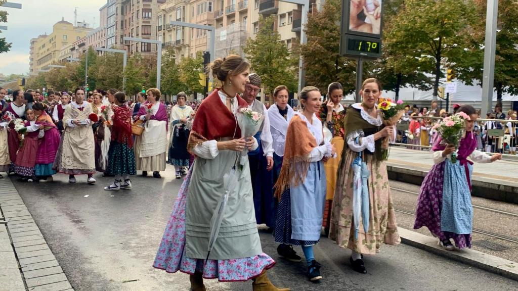
[[[126,105],[126,95],[124,93],[117,92],[113,97],[115,100],[113,123],[107,124],[111,128],[107,171],[115,175],[115,181],[113,181],[113,184],[104,187],[104,190],[129,190],[132,188],[130,175],[137,173],[131,131],[132,110]]]

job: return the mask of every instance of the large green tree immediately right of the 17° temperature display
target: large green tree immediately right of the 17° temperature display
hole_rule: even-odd
[[[471,60],[470,32],[476,21],[472,0],[407,0],[391,21],[392,50],[402,52],[405,61],[414,58],[420,72],[435,75],[434,97],[441,64],[466,64]]]

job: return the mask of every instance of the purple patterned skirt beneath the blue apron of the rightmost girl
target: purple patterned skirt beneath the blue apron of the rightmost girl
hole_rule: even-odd
[[[426,226],[431,234],[440,240],[453,239],[457,248],[471,248],[471,235],[441,231],[444,165],[445,162],[435,164],[423,180],[418,205],[415,209],[414,229]]]

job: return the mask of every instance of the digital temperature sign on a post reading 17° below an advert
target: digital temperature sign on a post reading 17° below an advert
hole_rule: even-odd
[[[365,13],[365,11],[367,13]],[[356,60],[356,102],[363,82],[363,62],[381,57],[383,5],[381,1],[365,0],[364,6],[342,0],[340,55]]]

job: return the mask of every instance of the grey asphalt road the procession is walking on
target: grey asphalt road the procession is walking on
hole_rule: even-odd
[[[181,180],[167,166],[164,178],[133,177],[133,190],[103,191],[110,178],[96,175],[88,185],[55,176],[53,183],[25,183],[13,178],[18,192],[70,283],[80,291],[188,290],[189,277],[167,274],[151,265],[162,238]],[[515,281],[467,267],[408,245],[382,246],[366,256],[368,273],[354,273],[350,251],[322,238],[315,257],[324,279],[310,283],[304,263],[280,259],[270,234],[261,233],[263,250],[277,260],[269,276],[292,290],[516,290]],[[303,256],[300,248],[296,248]],[[209,290],[251,290],[251,283],[206,280]]]

